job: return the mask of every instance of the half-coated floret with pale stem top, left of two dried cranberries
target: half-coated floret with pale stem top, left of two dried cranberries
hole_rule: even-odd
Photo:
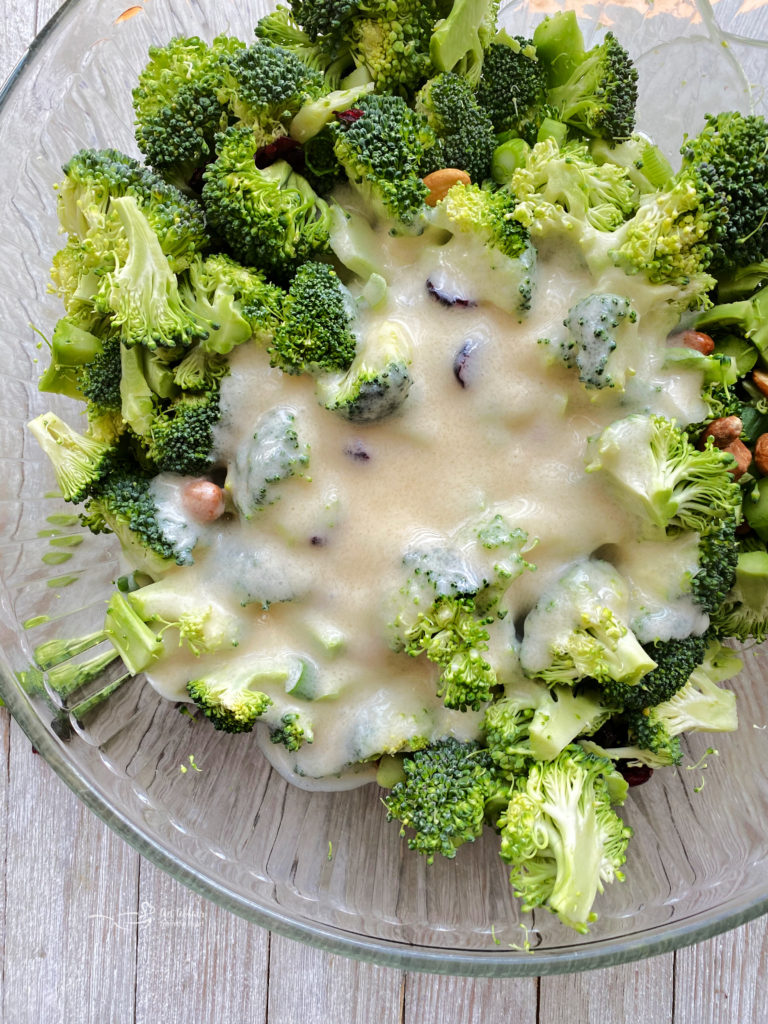
[[[370,331],[343,377],[321,379],[326,408],[353,423],[373,423],[394,413],[411,389],[412,347],[411,335],[396,321]]]

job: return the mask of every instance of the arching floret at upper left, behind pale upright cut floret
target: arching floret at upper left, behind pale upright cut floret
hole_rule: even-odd
[[[58,185],[61,227],[80,241],[88,239],[99,255],[114,250],[103,253],[106,269],[115,267],[115,253],[122,254],[125,225],[115,200],[124,197],[138,206],[172,270],[183,270],[208,244],[200,204],[132,157],[116,150],[81,150],[65,164],[63,173]]]

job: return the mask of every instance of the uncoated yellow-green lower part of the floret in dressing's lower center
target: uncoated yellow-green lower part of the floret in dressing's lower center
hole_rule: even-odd
[[[441,596],[407,630],[406,652],[414,657],[426,653],[439,666],[437,695],[446,708],[478,711],[490,699],[496,672],[483,657],[489,622],[478,615],[471,598]]]

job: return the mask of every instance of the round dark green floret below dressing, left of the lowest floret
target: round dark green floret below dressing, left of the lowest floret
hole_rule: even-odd
[[[384,797],[387,820],[412,828],[410,849],[431,864],[435,854],[453,858],[473,843],[484,824],[485,802],[495,792],[492,764],[477,743],[442,739],[402,761],[406,778]]]

